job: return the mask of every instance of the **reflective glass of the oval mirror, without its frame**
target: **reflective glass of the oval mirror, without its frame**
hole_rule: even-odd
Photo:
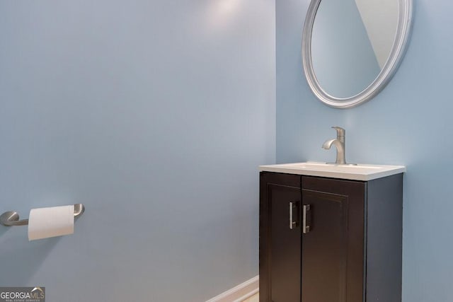
[[[325,93],[351,98],[377,79],[394,46],[398,2],[320,2],[311,32],[311,62]]]

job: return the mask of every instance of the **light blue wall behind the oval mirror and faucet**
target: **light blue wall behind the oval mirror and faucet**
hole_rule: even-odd
[[[321,149],[346,129],[347,159],[403,164],[403,301],[452,301],[453,4],[415,0],[411,41],[394,79],[349,110],[314,98],[300,40],[309,1],[276,1],[277,162],[332,161]],[[385,209],[382,209],[385,211]]]

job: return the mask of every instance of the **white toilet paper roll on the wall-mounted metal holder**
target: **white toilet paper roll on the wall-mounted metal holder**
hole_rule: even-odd
[[[74,233],[74,204],[71,206],[31,209],[28,240]]]

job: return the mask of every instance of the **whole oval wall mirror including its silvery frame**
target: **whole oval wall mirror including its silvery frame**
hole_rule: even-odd
[[[373,98],[401,62],[411,17],[412,0],[312,0],[302,35],[311,91],[335,108]]]

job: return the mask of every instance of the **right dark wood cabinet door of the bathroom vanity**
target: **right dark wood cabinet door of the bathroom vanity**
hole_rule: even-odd
[[[365,183],[303,176],[302,202],[302,301],[363,301]]]

